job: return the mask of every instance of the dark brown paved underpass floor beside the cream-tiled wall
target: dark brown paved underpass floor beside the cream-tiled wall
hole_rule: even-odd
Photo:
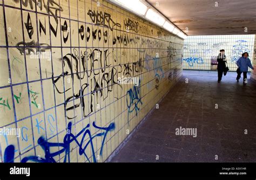
[[[232,72],[220,84],[217,72],[183,74],[111,162],[256,162],[256,83],[243,86]],[[176,135],[179,127],[197,137]]]

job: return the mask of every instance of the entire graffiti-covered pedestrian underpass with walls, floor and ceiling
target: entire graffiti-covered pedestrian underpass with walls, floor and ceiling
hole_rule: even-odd
[[[0,162],[255,162],[255,10],[0,0]]]

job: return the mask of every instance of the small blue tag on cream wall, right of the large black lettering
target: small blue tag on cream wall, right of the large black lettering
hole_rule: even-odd
[[[142,105],[142,100],[140,97],[140,80],[138,86],[133,86],[133,89],[131,88],[126,93],[126,103],[128,107],[128,124],[129,124],[129,114],[135,110],[136,116],[138,115],[139,111],[139,103]]]

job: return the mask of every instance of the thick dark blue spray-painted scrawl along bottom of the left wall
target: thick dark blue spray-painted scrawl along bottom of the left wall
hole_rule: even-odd
[[[72,122],[69,122],[68,129],[67,129],[67,134],[64,136],[63,143],[47,142],[44,139],[43,136],[39,137],[39,139],[37,140],[37,143],[39,144],[39,146],[41,146],[41,148],[44,151],[44,158],[41,158],[41,157],[39,158],[38,156],[28,156],[28,157],[22,158],[21,162],[25,163],[25,162],[30,161],[30,162],[42,162],[42,163],[55,163],[56,161],[53,157],[58,156],[62,153],[65,154],[63,162],[70,162],[70,151],[71,151],[70,150],[70,144],[72,142],[75,142],[78,145],[79,155],[84,155],[86,157],[87,161],[89,161],[89,162],[91,162],[91,161],[90,161],[89,157],[87,156],[87,154],[85,153],[85,150],[90,145],[93,162],[97,162],[96,154],[95,154],[95,148],[93,147],[93,140],[96,137],[103,136],[102,144],[101,144],[101,147],[100,147],[100,156],[102,156],[104,142],[106,140],[106,135],[109,131],[112,131],[115,128],[115,124],[110,123],[108,127],[99,127],[99,126],[96,126],[95,122],[93,122],[92,126],[96,129],[98,129],[98,130],[99,129],[103,130],[103,132],[102,133],[97,133],[96,135],[92,136],[91,131],[89,129],[90,124],[87,124],[87,126],[85,128],[83,128],[75,136],[71,133]],[[86,135],[89,136],[89,140],[87,140],[87,142],[84,142],[84,140],[87,137]],[[82,139],[79,142],[78,137],[80,137],[80,136],[82,136]],[[85,144],[84,147],[83,147],[83,144]],[[60,147],[62,149],[60,149],[59,151],[51,153],[51,151],[50,151],[51,147]],[[10,145],[10,146],[6,147],[6,149],[4,151],[4,162],[14,162],[14,153],[15,153],[15,147],[13,145]]]

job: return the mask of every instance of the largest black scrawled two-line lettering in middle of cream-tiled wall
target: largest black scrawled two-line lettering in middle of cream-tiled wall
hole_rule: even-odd
[[[111,66],[107,64],[107,57],[109,56],[108,50],[102,51],[99,49],[87,49],[86,52],[79,52],[76,49],[73,49],[72,53],[68,53],[63,57],[63,67],[66,71],[64,74],[60,74],[55,80],[52,78],[53,85],[55,86],[59,94],[63,94],[64,90],[61,90],[63,87],[59,84],[59,81],[64,77],[71,76],[72,87],[76,80],[82,80],[89,78],[87,83],[84,83],[80,86],[79,89],[73,89],[74,94],[72,96],[66,97],[64,107],[66,112],[76,109],[80,106],[83,108],[83,116],[86,117],[91,114],[96,107],[95,103],[98,103],[98,98],[105,100],[109,93],[113,91],[113,86],[117,85],[122,89],[122,85],[118,84],[118,77],[122,76],[122,66]],[[62,61],[62,59],[59,59]],[[80,63],[79,63],[80,61]],[[79,64],[82,65],[82,73],[78,73]],[[90,64],[88,66],[88,64]],[[95,65],[100,65],[95,67]],[[100,71],[103,73],[99,76]],[[93,75],[92,75],[93,74]],[[92,77],[91,77],[92,75]],[[72,88],[66,88],[65,92],[72,92]],[[76,91],[76,92],[75,92]],[[86,95],[89,92],[89,95]],[[96,96],[96,102],[94,102],[93,96]],[[119,98],[116,96],[115,98]],[[73,104],[74,100],[79,100],[75,105]],[[75,117],[66,115],[68,119],[73,119]]]

